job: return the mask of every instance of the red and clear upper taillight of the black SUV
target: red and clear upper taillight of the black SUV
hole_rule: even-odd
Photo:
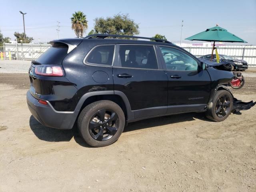
[[[38,65],[35,73],[42,76],[63,76],[63,70],[60,66]]]

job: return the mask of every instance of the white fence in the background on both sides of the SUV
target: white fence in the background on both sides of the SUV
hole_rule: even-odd
[[[0,52],[2,52],[3,59],[33,60],[50,47],[50,44],[4,44],[4,47],[0,47]],[[248,62],[249,66],[256,66],[256,46],[222,45],[217,47],[219,54],[225,54],[235,59],[243,59]],[[211,47],[204,46],[192,45],[182,48],[197,57],[211,54],[212,52]]]

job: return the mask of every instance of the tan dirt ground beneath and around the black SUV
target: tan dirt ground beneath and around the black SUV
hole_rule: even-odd
[[[234,96],[256,100],[255,83],[246,77]],[[75,129],[37,122],[28,87],[27,74],[0,74],[0,192],[256,191],[256,107],[224,122],[198,113],[142,120],[90,148]]]

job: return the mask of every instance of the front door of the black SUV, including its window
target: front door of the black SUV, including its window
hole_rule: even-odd
[[[210,96],[211,79],[200,62],[182,49],[159,46],[168,76],[168,113],[204,110]]]

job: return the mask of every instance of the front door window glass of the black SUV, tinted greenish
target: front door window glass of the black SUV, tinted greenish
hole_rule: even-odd
[[[177,71],[194,71],[198,69],[198,62],[181,50],[160,46],[166,68]]]

